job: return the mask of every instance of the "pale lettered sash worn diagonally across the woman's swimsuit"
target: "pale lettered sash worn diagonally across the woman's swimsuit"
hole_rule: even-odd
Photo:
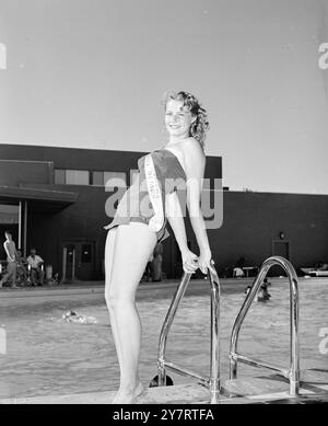
[[[164,224],[163,200],[151,153],[144,159],[144,174],[149,197],[154,209],[154,216],[151,217],[149,227],[152,231],[159,232]]]

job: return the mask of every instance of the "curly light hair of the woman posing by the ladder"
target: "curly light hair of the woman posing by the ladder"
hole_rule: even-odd
[[[190,136],[192,136],[200,143],[202,150],[204,150],[207,131],[210,128],[206,108],[199,103],[197,97],[189,92],[165,92],[162,102],[164,107],[166,107],[167,102],[171,100],[181,101],[184,106],[187,106],[190,113],[196,116],[196,120],[190,126]]]

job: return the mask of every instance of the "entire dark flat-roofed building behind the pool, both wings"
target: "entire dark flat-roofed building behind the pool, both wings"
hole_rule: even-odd
[[[1,145],[0,241],[4,240],[3,231],[11,229],[24,254],[36,247],[59,276],[65,258],[68,278],[74,270],[80,280],[103,279],[103,227],[112,220],[105,204],[113,194],[105,191],[104,183],[117,179],[118,186],[119,182],[129,186],[143,154]],[[242,256],[250,266],[272,254],[290,258],[296,268],[328,261],[327,195],[222,192],[214,184],[222,182],[220,157],[208,157],[206,177],[210,191],[204,191],[219,217],[216,226],[208,229],[219,273]],[[189,218],[186,227],[190,250],[198,253]],[[172,235],[163,242],[163,270],[168,278],[179,277],[179,251],[169,226],[168,230]],[[1,244],[0,260],[4,258]]]

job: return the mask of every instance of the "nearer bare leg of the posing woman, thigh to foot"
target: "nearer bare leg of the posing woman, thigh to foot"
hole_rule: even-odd
[[[156,234],[140,222],[119,226],[106,301],[114,319],[119,354],[120,387],[114,403],[128,404],[143,390],[138,377],[141,323],[136,307],[136,291],[156,244]]]

